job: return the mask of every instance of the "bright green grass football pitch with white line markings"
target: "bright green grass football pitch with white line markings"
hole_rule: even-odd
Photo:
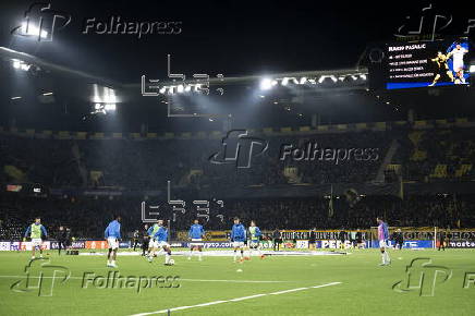
[[[475,251],[377,250],[331,256],[98,255],[35,260],[0,253],[0,315],[474,315]],[[113,271],[117,271],[115,274]],[[40,280],[40,282],[38,282]],[[398,283],[399,282],[399,283]],[[169,312],[170,311],[170,312]]]

